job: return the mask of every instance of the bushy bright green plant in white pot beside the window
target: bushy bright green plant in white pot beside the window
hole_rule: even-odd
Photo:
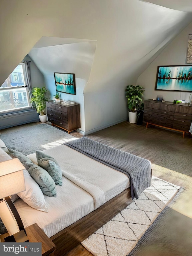
[[[31,98],[31,103],[33,102],[37,113],[39,113],[39,119],[42,123],[45,123],[47,120],[47,114],[44,113],[46,109],[46,101],[49,98],[46,97],[47,89],[44,87],[34,87],[32,89],[33,98]]]

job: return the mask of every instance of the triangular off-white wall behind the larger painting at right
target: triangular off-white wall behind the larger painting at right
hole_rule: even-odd
[[[165,101],[175,99],[189,99],[190,92],[156,91],[155,82],[158,66],[186,65],[188,35],[192,33],[190,23],[149,65],[149,67],[137,79],[137,84],[144,86],[144,98],[156,99],[157,95],[163,95]]]

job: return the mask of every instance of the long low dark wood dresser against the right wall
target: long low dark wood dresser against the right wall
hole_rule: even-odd
[[[173,104],[173,102],[146,100],[144,102],[144,121],[149,124],[175,131],[189,133],[192,122],[192,106]],[[190,133],[189,133],[190,134]]]

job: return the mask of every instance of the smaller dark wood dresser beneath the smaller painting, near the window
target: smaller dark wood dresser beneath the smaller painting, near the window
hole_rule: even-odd
[[[81,127],[79,104],[64,106],[60,102],[47,101],[46,107],[48,121],[52,125],[58,126],[68,133]]]

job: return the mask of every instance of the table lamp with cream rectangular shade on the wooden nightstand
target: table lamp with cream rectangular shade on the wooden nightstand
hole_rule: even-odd
[[[0,163],[0,217],[10,235],[5,242],[29,242],[19,213],[9,197],[26,190],[24,169],[18,158]]]

